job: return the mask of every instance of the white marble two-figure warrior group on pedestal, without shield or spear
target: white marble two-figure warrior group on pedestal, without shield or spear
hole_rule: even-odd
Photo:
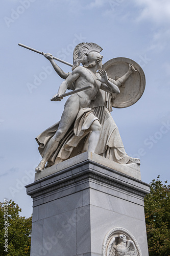
[[[86,86],[91,88],[72,94],[66,101],[61,120],[37,136],[42,160],[36,172],[86,151],[120,164],[140,164],[139,159],[127,155],[110,114],[115,95],[120,93],[119,87],[137,70],[129,63],[123,76],[109,78],[102,70],[102,50],[94,43],[76,46],[71,73],[61,70],[50,53],[43,53],[59,76],[65,79],[52,100],[62,100],[61,94],[67,89],[74,92]]]

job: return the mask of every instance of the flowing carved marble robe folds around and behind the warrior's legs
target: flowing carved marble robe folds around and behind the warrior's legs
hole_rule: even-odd
[[[79,111],[75,122],[69,127],[58,148],[52,153],[46,167],[86,152],[91,133],[89,128],[94,120],[99,120],[101,123],[100,139],[95,154],[120,164],[128,163],[130,157],[125,152],[117,125],[110,114],[111,99],[110,93],[99,90],[95,99],[91,101],[90,108]],[[42,157],[48,141],[55,135],[58,126],[59,122],[36,137],[39,144],[38,150]]]

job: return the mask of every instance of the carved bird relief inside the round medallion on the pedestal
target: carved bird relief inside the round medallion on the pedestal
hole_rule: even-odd
[[[137,256],[134,242],[127,240],[125,234],[119,234],[111,240],[107,256]]]

